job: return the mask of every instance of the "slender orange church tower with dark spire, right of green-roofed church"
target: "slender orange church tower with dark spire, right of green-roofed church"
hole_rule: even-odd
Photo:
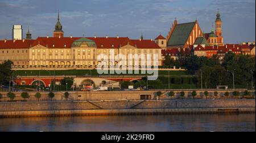
[[[215,35],[217,36],[217,44],[223,45],[222,21],[220,16],[220,12],[218,11],[215,20]]]

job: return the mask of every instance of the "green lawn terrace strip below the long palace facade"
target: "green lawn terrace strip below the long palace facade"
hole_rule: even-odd
[[[72,70],[49,70],[49,72],[51,72],[51,75],[90,75],[90,70],[76,70],[76,69],[72,69]],[[36,75],[49,75],[49,72],[47,70],[16,70],[14,72],[14,75],[21,75],[21,76],[36,76]],[[91,70],[92,75],[98,75],[97,70]],[[141,72],[140,72],[141,73]],[[101,74],[101,75],[109,75],[109,74]],[[112,74],[112,75],[131,75],[131,74]],[[134,75],[146,75],[146,74],[134,74]],[[150,74],[148,74],[150,75]],[[166,70],[159,70],[158,71],[158,75],[168,75],[168,71]],[[170,76],[180,76],[180,75],[191,75],[186,71],[170,71]]]

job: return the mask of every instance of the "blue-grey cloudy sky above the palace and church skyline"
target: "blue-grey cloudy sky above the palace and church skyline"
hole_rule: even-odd
[[[178,23],[196,19],[210,32],[220,9],[224,43],[255,41],[255,0],[0,0],[0,39],[11,39],[13,24],[32,38],[52,36],[60,11],[65,36],[121,36],[155,39]]]

